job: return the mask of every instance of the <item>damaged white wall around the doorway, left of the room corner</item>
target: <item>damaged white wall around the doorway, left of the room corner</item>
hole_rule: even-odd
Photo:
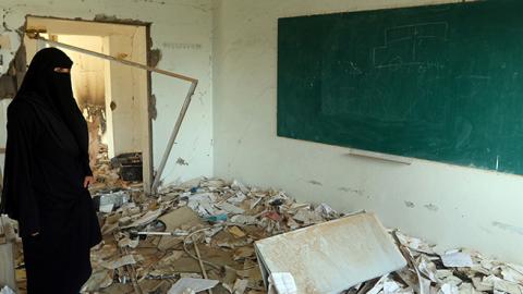
[[[14,30],[24,25],[27,14],[82,20],[94,20],[97,14],[105,14],[151,23],[153,47],[162,53],[157,66],[199,79],[194,101],[166,167],[166,182],[212,173],[210,0],[0,0],[0,20],[5,23],[0,27],[0,35],[9,35],[13,50],[20,45]],[[5,62],[10,62],[11,51],[0,52]],[[154,161],[157,167],[188,85],[155,74],[151,83],[158,111],[158,118],[153,123]],[[177,164],[179,157],[188,166]]]

